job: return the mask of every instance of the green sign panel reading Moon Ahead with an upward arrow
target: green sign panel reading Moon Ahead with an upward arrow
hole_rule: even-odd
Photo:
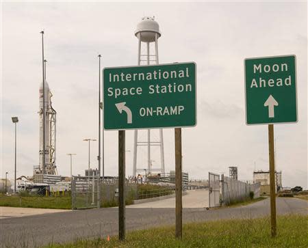
[[[296,57],[245,59],[246,124],[297,122]]]

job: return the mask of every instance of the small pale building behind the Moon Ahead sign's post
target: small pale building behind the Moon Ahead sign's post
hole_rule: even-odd
[[[260,182],[260,194],[270,194],[270,171],[253,171],[253,182]],[[275,171],[275,189],[282,189],[281,171]]]

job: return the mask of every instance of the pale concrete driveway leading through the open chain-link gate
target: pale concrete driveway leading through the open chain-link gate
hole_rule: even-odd
[[[185,191],[185,193],[182,197],[183,208],[207,208],[209,206],[209,191],[207,189]],[[175,208],[175,197],[129,205],[127,208]]]

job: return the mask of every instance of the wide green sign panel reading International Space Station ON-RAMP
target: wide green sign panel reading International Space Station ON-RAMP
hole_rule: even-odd
[[[196,64],[103,69],[105,130],[196,125]]]

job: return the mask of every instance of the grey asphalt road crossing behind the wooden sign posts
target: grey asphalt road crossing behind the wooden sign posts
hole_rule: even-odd
[[[184,208],[183,222],[215,219],[243,219],[269,215],[269,199],[238,208]],[[308,202],[296,198],[277,198],[277,214],[308,215]],[[146,229],[158,225],[174,225],[174,208],[127,208],[127,230]],[[58,212],[0,219],[1,247],[34,247],[70,242],[76,238],[90,238],[118,234],[118,209],[101,208]]]

